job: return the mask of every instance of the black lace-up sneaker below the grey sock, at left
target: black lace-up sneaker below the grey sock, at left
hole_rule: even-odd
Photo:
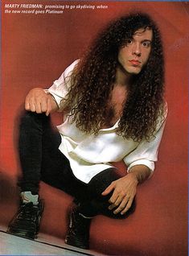
[[[35,239],[39,233],[39,224],[43,213],[44,203],[39,200],[39,204],[21,203],[18,213],[15,214],[7,229],[7,233],[19,237]]]

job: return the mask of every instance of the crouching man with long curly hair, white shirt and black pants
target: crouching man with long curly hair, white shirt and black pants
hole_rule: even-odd
[[[146,14],[110,23],[50,89],[31,89],[20,124],[21,205],[8,232],[35,238],[43,180],[74,196],[65,242],[88,249],[92,217],[127,217],[154,171],[166,119],[158,28]],[[52,129],[49,114],[64,111]],[[124,160],[120,177],[112,162]]]

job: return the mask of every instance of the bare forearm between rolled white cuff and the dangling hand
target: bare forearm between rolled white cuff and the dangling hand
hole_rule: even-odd
[[[146,167],[146,165],[140,164],[131,167],[129,173],[135,175],[138,183],[140,184],[149,178],[151,171],[149,167]]]

